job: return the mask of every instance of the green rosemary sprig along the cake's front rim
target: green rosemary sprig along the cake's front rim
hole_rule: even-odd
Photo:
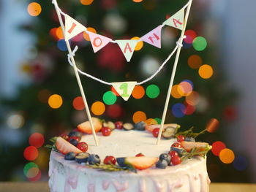
[[[105,171],[105,172],[135,172],[137,173],[137,170],[133,166],[117,166],[113,164],[94,164],[94,165],[86,165],[93,169],[99,169],[99,171]]]

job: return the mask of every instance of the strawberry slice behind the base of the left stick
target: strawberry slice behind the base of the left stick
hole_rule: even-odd
[[[99,132],[102,129],[102,122],[98,118],[91,118],[91,120],[92,120],[92,123],[94,124],[95,132]],[[86,122],[80,123],[78,125],[78,130],[86,134],[92,134],[89,120],[87,120]]]

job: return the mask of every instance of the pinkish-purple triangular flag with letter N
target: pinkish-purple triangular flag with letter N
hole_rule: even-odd
[[[162,25],[154,28],[143,37],[140,37],[140,39],[143,40],[143,42],[147,42],[148,44],[161,48],[161,31]]]

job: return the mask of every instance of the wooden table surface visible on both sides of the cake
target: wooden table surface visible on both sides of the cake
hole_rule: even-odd
[[[48,183],[0,182],[0,192],[48,192]],[[211,183],[210,192],[254,192],[256,184]]]

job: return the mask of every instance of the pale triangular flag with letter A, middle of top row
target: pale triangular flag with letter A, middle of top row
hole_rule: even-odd
[[[137,45],[137,40],[116,40],[117,44],[121,48],[121,51],[124,53],[127,62],[129,62],[132,58],[132,54]]]

